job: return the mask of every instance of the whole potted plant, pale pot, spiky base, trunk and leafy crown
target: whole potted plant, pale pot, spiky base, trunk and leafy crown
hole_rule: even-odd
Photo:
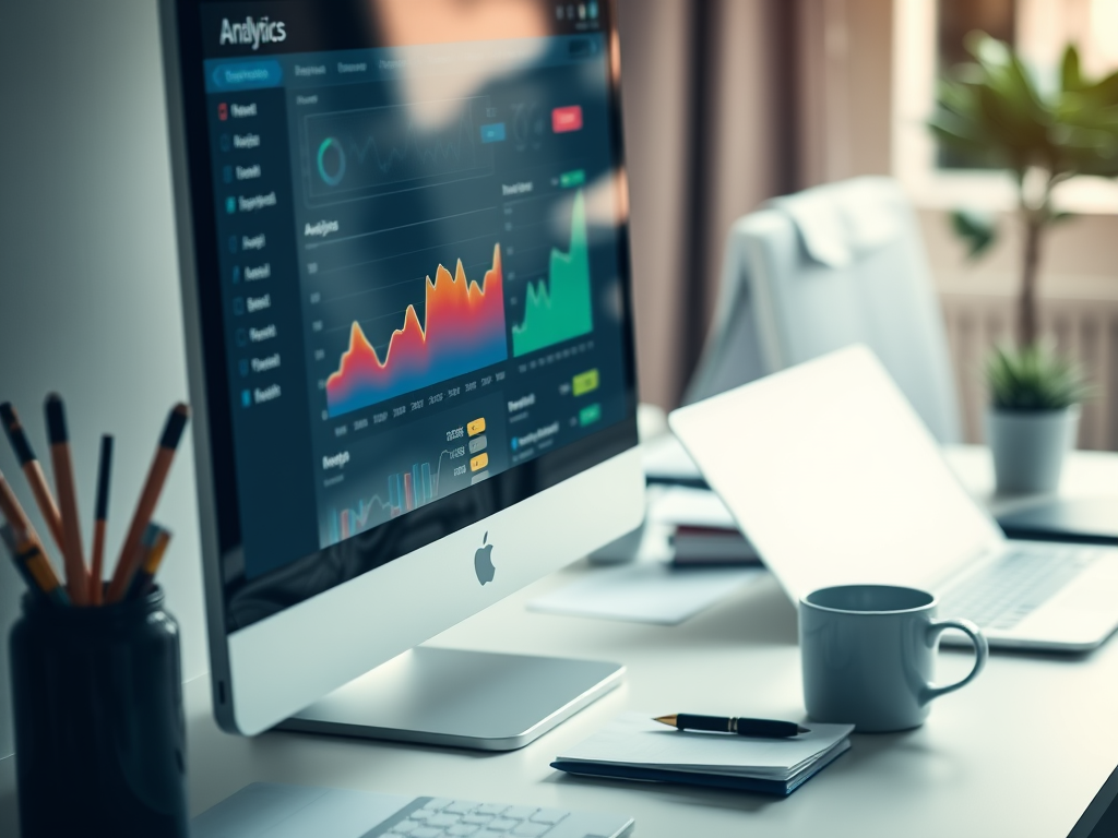
[[[1080,175],[1118,175],[1118,73],[1084,77],[1079,53],[1069,46],[1059,77],[1039,80],[1002,41],[973,32],[966,46],[975,60],[941,79],[929,127],[958,158],[1012,172],[1023,231],[1016,343],[995,349],[985,369],[987,441],[999,492],[1050,492],[1059,480],[1062,454],[1074,439],[1086,388],[1078,369],[1041,341],[1036,279],[1042,244],[1048,230],[1068,217],[1052,201],[1060,183]],[[992,216],[957,211],[953,222],[972,257],[996,238]]]

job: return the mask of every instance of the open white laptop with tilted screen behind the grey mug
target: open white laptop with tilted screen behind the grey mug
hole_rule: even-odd
[[[795,601],[835,584],[922,588],[992,646],[1054,651],[1092,649],[1118,626],[1118,549],[1006,539],[864,346],[669,423]]]

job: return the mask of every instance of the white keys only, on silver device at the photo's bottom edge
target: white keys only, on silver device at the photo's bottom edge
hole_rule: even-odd
[[[416,798],[362,838],[540,838],[570,812],[506,803],[472,803],[447,798]]]

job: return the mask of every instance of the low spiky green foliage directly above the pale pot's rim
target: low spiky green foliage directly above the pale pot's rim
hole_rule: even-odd
[[[995,410],[1063,410],[1089,396],[1079,365],[1060,358],[1046,342],[996,346],[985,372]]]

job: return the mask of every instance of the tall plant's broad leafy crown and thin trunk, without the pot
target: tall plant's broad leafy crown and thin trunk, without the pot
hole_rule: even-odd
[[[1067,217],[1052,206],[1052,191],[1071,178],[1118,177],[1118,73],[1089,79],[1079,51],[1068,46],[1059,77],[1039,79],[1010,46],[983,32],[967,36],[974,61],[940,80],[929,127],[961,159],[1007,169],[1017,184],[1017,218],[1024,230],[1017,294],[1017,342],[1039,337],[1036,275],[1042,238]],[[992,216],[956,212],[956,232],[972,256],[996,236]]]

